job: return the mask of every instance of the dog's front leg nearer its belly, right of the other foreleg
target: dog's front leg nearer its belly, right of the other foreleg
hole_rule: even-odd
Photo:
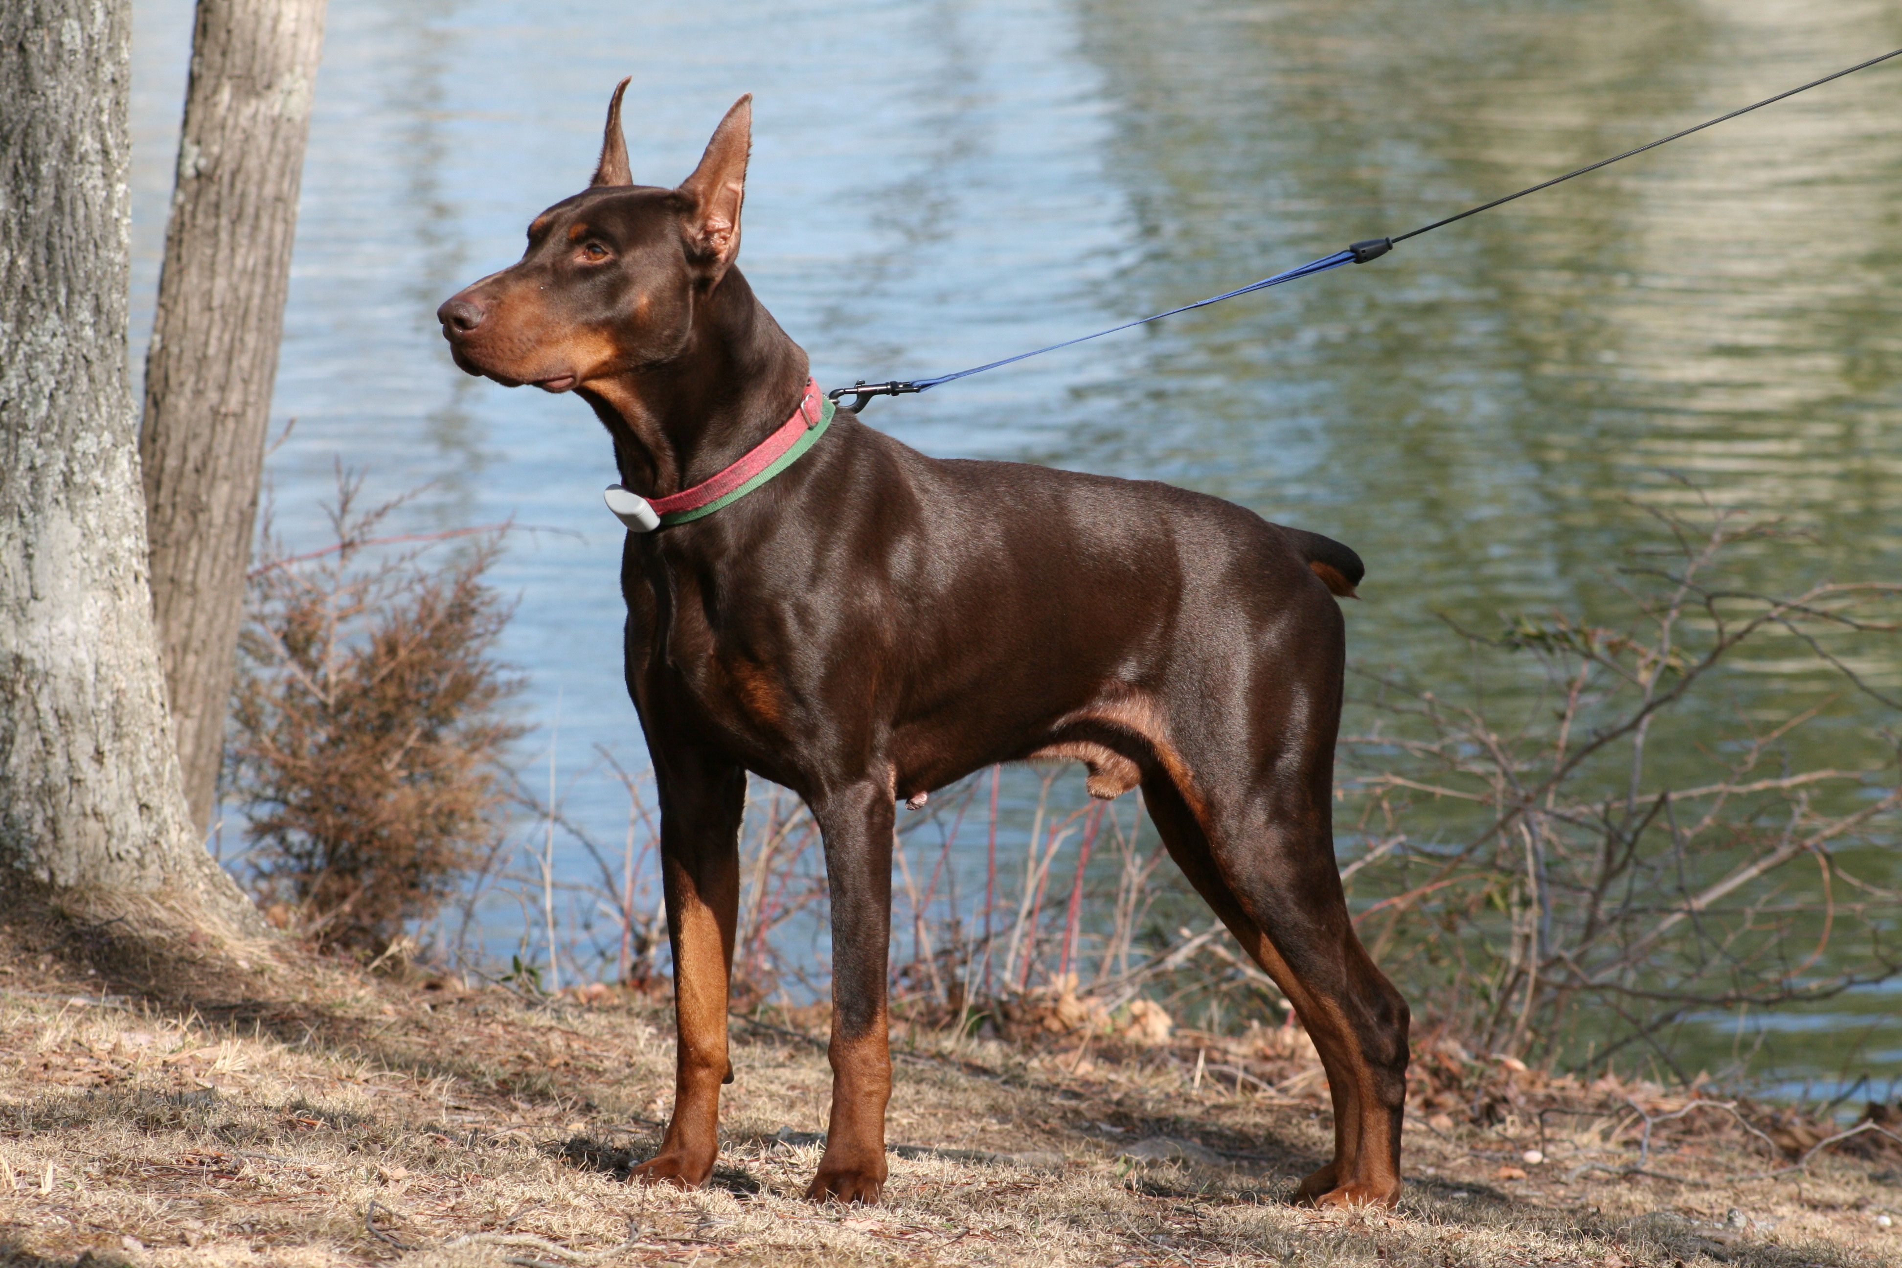
[[[877,1201],[884,1190],[884,1105],[892,1047],[884,1013],[892,941],[892,821],[886,783],[858,783],[812,806],[825,838],[833,920],[833,1114],[806,1198]]]

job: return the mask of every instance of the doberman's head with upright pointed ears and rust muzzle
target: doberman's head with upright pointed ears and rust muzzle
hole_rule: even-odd
[[[521,262],[456,291],[436,317],[456,365],[506,388],[569,392],[677,355],[694,304],[740,253],[753,99],[721,120],[679,188],[633,184],[620,97],[590,186],[529,224]]]

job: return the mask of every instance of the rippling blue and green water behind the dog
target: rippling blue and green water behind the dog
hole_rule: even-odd
[[[190,6],[135,17],[148,314]],[[599,502],[609,445],[571,397],[462,376],[432,314],[586,181],[622,74],[643,183],[685,177],[732,99],[757,93],[742,264],[820,382],[841,384],[1229,289],[1898,44],[1902,15],[1873,0],[1474,0],[1434,21],[1398,0],[333,0],[274,403],[297,418],[270,458],[276,527],[312,542],[342,460],[378,492],[430,483],[409,527],[559,528],[517,536],[500,568],[519,597],[506,654],[533,679],[525,760],[553,743],[571,814],[612,840],[624,802],[590,774],[593,747],[639,760],[639,732],[620,690],[620,532]],[[1156,475],[1339,536],[1369,563],[1356,663],[1426,682],[1465,663],[1440,614],[1491,627],[1601,601],[1607,565],[1651,540],[1630,498],[1681,502],[1678,475],[1809,530],[1752,557],[1767,589],[1894,578],[1898,76],[867,420],[934,454]],[[135,344],[137,363],[143,331]],[[1902,682],[1892,662],[1866,669]],[[1763,667],[1757,703],[1809,688],[1780,673]],[[1892,720],[1843,705],[1813,743],[1873,760]],[[1892,996],[1872,996],[1822,1028],[1885,1011]],[[1875,1068],[1902,1070],[1902,1036],[1885,1042]],[[1818,1078],[1839,1059],[1784,1055]]]

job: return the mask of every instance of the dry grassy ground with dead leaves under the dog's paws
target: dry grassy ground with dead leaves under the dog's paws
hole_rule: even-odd
[[[715,1184],[649,1190],[626,1169],[668,1112],[656,1000],[531,1004],[30,903],[4,924],[0,1264],[1902,1262],[1885,1139],[1754,1179],[1815,1124],[1744,1106],[1754,1135],[1697,1093],[1430,1038],[1400,1209],[1293,1207],[1329,1141],[1303,1036],[1059,1034],[1058,1006],[1018,1038],[902,1034],[869,1209],[799,1196],[829,1089],[818,1019],[736,1019]]]

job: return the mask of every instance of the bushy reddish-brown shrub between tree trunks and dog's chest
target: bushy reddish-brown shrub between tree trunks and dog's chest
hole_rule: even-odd
[[[253,572],[226,779],[266,911],[382,952],[500,840],[523,728],[495,660],[510,608],[483,584],[498,532],[443,559],[453,534],[392,551],[377,528],[403,500],[359,509],[359,492],[339,471],[333,544]]]

